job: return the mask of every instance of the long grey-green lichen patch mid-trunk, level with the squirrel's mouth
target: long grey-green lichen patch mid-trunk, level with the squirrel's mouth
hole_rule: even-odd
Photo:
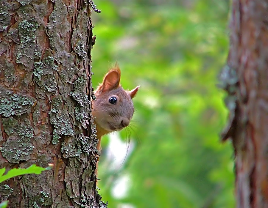
[[[54,97],[51,104],[49,120],[56,130],[53,132],[57,133],[57,135],[73,136],[74,130],[72,129],[66,106],[63,107],[62,97],[60,95]]]

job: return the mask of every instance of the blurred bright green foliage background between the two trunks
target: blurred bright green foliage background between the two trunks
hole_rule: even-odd
[[[124,208],[235,207],[233,150],[219,138],[228,111],[216,86],[229,1],[95,3],[94,88],[115,62],[125,89],[141,85],[130,127],[103,138],[102,199]]]

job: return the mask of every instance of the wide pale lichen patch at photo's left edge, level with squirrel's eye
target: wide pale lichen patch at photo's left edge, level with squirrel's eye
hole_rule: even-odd
[[[34,103],[35,99],[32,97],[15,94],[0,87],[0,114],[4,117],[27,113]]]

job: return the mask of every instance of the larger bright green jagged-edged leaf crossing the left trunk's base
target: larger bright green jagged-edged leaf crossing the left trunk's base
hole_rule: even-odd
[[[38,167],[35,164],[33,164],[29,168],[13,168],[10,171],[8,171],[7,174],[5,174],[5,175],[3,175],[3,173],[5,172],[5,168],[2,168],[2,169],[0,169],[0,183],[7,180],[7,179],[10,179],[12,177],[19,176],[19,175],[32,174],[32,173],[40,174],[44,170],[49,170],[49,168],[50,167],[42,168],[42,167]]]

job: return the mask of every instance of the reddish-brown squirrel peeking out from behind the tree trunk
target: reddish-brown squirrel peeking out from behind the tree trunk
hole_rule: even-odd
[[[132,98],[140,86],[130,91],[124,90],[120,85],[120,77],[121,71],[116,64],[94,92],[96,100],[92,100],[92,115],[95,117],[96,138],[99,140],[98,150],[101,148],[102,136],[127,127],[134,113]]]

